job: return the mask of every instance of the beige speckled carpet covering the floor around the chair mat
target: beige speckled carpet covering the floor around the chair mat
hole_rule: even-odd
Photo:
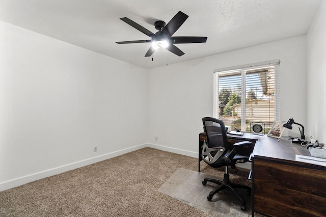
[[[197,171],[198,161],[140,149],[0,192],[0,216],[209,216],[158,191],[179,168]],[[223,175],[204,162],[201,170]],[[239,171],[230,179],[247,175]]]

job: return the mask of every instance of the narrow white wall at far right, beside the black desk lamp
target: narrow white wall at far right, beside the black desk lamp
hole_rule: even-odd
[[[307,34],[308,108],[307,122],[311,135],[326,143],[326,2],[319,7]]]

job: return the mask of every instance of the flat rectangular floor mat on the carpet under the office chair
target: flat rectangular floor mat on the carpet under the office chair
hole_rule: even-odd
[[[240,209],[240,201],[227,190],[219,192],[213,197],[212,201],[208,201],[207,195],[216,184],[211,183],[204,186],[202,184],[204,178],[223,179],[223,177],[215,177],[180,168],[158,191],[196,207],[209,216],[248,216],[248,211]],[[246,200],[247,207],[250,208],[251,200],[250,196],[246,195],[246,190],[239,189],[238,192]]]

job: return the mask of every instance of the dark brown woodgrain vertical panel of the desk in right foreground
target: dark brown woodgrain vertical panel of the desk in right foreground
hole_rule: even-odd
[[[253,158],[254,210],[270,216],[324,216],[326,171],[272,158]]]

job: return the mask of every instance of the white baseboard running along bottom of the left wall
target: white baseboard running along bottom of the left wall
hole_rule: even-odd
[[[106,154],[99,155],[99,156],[96,156],[96,157],[91,157],[91,158],[88,158],[88,159],[72,162],[71,164],[67,164],[67,165],[63,165],[63,166],[60,166],[60,167],[40,171],[40,172],[29,174],[29,175],[26,175],[26,176],[17,177],[17,178],[10,179],[10,180],[4,181],[4,182],[0,182],[0,192],[5,191],[5,190],[10,189],[10,188],[13,188],[13,187],[17,187],[19,185],[23,185],[23,184],[32,182],[32,181],[36,181],[36,180],[39,180],[39,179],[42,179],[42,178],[46,178],[46,177],[49,177],[49,176],[64,173],[64,172],[67,172],[69,170],[74,170],[74,169],[77,169],[77,168],[80,168],[80,167],[85,167],[87,165],[91,165],[91,164],[94,164],[96,162],[106,160],[106,159],[110,159],[110,158],[119,156],[121,154],[126,154],[126,153],[129,153],[131,151],[135,151],[135,150],[145,148],[145,147],[148,147],[147,143],[137,145],[137,146],[133,146],[133,147],[126,148],[126,149],[122,149],[122,150],[118,150],[118,151],[114,151],[114,152],[110,152],[110,153],[106,153]]]

